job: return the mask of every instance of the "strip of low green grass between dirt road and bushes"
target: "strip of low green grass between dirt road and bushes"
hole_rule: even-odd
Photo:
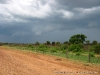
[[[10,48],[66,58],[66,53],[63,53],[62,51],[51,52],[50,49],[48,49],[48,50],[43,52],[43,51],[38,50],[38,47],[28,48],[28,47],[19,47],[19,46],[11,47],[10,46]],[[76,55],[75,53],[68,52],[68,59],[78,61],[78,62],[88,63],[88,53],[83,52],[80,55]],[[100,57],[97,57],[97,56],[91,57],[91,62],[90,63],[100,65]]]

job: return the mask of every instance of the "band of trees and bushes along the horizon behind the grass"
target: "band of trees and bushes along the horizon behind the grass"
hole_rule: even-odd
[[[10,46],[58,46],[62,47],[61,49],[66,49],[68,51],[73,51],[73,52],[81,52],[83,50],[87,51],[94,51],[95,53],[100,53],[100,43],[98,43],[96,40],[94,40],[92,43],[90,43],[89,40],[86,40],[87,36],[84,34],[75,34],[72,35],[69,39],[69,41],[65,41],[63,43],[57,41],[57,42],[50,42],[46,41],[45,43],[39,43],[36,41],[36,43],[2,43],[0,42],[0,46],[2,45],[10,45]],[[41,45],[43,44],[43,45]]]

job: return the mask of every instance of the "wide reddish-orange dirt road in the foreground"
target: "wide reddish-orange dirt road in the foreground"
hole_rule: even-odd
[[[100,66],[86,66],[54,56],[0,47],[0,75],[100,75]]]

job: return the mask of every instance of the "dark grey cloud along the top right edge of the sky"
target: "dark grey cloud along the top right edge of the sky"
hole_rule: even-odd
[[[100,0],[57,0],[59,5],[68,6],[69,8],[91,8],[100,6]]]

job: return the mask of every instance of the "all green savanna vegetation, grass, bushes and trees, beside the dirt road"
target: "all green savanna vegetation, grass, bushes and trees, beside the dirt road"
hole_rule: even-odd
[[[76,34],[71,36],[69,41],[63,43],[59,41],[39,43],[36,41],[34,44],[0,43],[0,46],[5,45],[21,50],[29,50],[43,54],[56,55],[71,60],[100,64],[100,43],[96,40],[90,43],[86,38],[87,36],[84,34]]]

